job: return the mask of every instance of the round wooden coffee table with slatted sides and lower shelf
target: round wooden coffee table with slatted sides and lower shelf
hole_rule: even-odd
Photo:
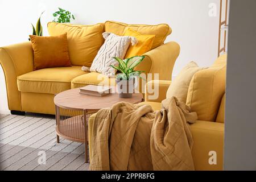
[[[142,102],[141,93],[133,94],[131,98],[119,98],[117,93],[106,96],[89,96],[79,93],[79,88],[66,90],[54,97],[56,108],[57,143],[59,137],[85,144],[85,162],[88,162],[88,118],[100,109],[111,107],[117,102]],[[86,123],[86,124],[85,124]]]

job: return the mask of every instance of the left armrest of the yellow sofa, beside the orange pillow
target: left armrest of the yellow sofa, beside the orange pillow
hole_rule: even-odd
[[[30,42],[0,48],[0,64],[5,73],[8,105],[10,110],[22,110],[17,77],[33,71],[33,49]]]

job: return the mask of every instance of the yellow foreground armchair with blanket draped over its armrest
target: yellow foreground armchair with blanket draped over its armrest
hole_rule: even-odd
[[[146,90],[148,87],[159,86],[159,97],[150,100],[151,94],[146,92],[145,102],[141,104],[149,104],[154,110],[160,110],[160,102],[168,97],[166,93],[170,84],[171,81],[167,80],[148,82]],[[196,123],[191,125],[194,140],[192,156],[196,170],[223,169],[225,85],[226,55],[218,57],[208,69],[197,72],[189,85],[186,104],[198,115]],[[89,118],[89,153],[94,117],[95,114]],[[216,164],[210,158],[212,151],[216,152]]]

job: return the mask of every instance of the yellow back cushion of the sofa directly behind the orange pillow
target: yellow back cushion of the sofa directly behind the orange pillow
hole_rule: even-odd
[[[68,51],[72,65],[90,67],[98,50],[104,43],[102,33],[104,24],[76,25],[67,23],[48,23],[51,36],[67,33]]]

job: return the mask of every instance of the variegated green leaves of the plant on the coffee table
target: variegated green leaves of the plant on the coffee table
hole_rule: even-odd
[[[134,70],[134,68],[144,59],[144,56],[134,56],[124,60],[120,59],[119,57],[113,58],[118,61],[119,65],[117,67],[114,65],[110,65],[110,67],[117,69],[119,72],[121,72],[117,75],[117,80],[130,80],[130,78],[133,77],[141,77],[141,73],[144,72]]]

